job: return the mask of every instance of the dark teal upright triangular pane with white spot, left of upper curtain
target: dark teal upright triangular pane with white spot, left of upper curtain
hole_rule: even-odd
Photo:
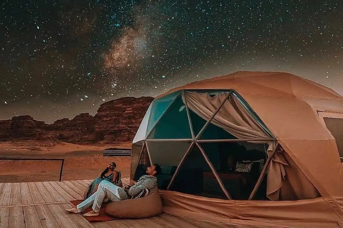
[[[186,105],[181,94],[158,120],[147,139],[192,139]]]

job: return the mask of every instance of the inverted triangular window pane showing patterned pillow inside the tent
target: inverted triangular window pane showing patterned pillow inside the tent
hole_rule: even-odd
[[[249,199],[267,160],[265,146],[249,142],[211,142],[200,143],[200,146],[230,197],[234,200]],[[266,192],[256,195],[257,198],[268,199]]]

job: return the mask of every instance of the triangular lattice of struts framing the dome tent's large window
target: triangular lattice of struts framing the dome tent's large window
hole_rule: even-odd
[[[163,118],[163,116],[168,112],[169,108],[173,105],[173,103],[177,100],[177,98],[179,96],[185,96],[185,92],[200,92],[200,93],[209,93],[211,95],[216,95],[216,94],[225,94],[226,97],[225,99],[223,99],[223,101],[221,102],[221,104],[216,108],[216,110],[212,113],[211,117],[208,119],[208,121],[206,121],[206,123],[204,124],[204,126],[200,129],[200,131],[198,132],[198,134],[194,134],[194,129],[192,126],[192,121],[191,121],[191,117],[189,114],[189,107],[187,104],[187,101],[184,101],[184,105],[185,105],[185,109],[186,109],[186,113],[187,113],[187,118],[188,118],[188,123],[189,123],[189,127],[190,127],[190,131],[191,131],[191,137],[192,138],[187,138],[187,139],[149,139],[149,136],[151,136],[154,128],[156,125],[158,125],[158,123],[161,121],[161,119]],[[256,123],[258,125],[260,125],[261,129],[264,131],[264,133],[266,135],[269,136],[269,138],[244,138],[244,139],[200,139],[200,136],[203,134],[204,130],[206,129],[206,127],[208,127],[208,125],[211,123],[212,119],[216,116],[216,114],[222,109],[224,103],[230,98],[230,97],[234,97],[235,99],[238,100],[238,102],[240,103],[240,105],[251,115],[251,117],[256,121]],[[243,98],[241,98],[239,96],[239,94],[234,91],[234,90],[181,90],[181,91],[177,91],[175,92],[174,96],[173,96],[173,100],[170,101],[170,103],[165,106],[165,110],[161,113],[161,115],[159,116],[159,118],[157,120],[155,120],[153,126],[150,127],[150,129],[148,129],[149,126],[149,122],[151,121],[150,115],[152,114],[152,106],[156,106],[156,103],[158,103],[158,99],[154,100],[150,106],[148,111],[146,112],[146,116],[144,116],[142,124],[136,134],[136,136],[142,136],[144,134],[142,134],[140,131],[145,131],[145,137],[144,139],[141,139],[139,141],[137,141],[137,137],[135,137],[135,140],[133,140],[133,144],[136,143],[141,143],[143,142],[143,145],[141,147],[141,151],[140,151],[140,155],[139,158],[142,156],[143,153],[143,148],[146,148],[147,154],[149,155],[149,159],[150,159],[150,164],[154,164],[154,159],[152,158],[150,149],[149,149],[149,145],[148,142],[180,142],[180,141],[187,141],[190,142],[189,147],[187,148],[187,150],[185,151],[184,155],[182,156],[182,159],[180,160],[179,164],[177,165],[177,168],[175,170],[175,173],[173,174],[170,182],[168,183],[168,186],[166,188],[166,190],[170,190],[171,185],[173,184],[176,176],[178,175],[178,172],[180,170],[180,167],[182,166],[182,164],[184,163],[187,155],[190,153],[191,149],[196,146],[198,147],[198,149],[200,150],[202,156],[204,157],[206,163],[209,165],[209,167],[211,168],[212,173],[214,174],[214,177],[216,178],[216,180],[218,181],[219,186],[221,187],[222,191],[224,192],[224,194],[226,195],[227,199],[231,200],[232,197],[230,196],[229,192],[225,189],[222,180],[220,179],[219,175],[217,174],[215,168],[213,167],[212,163],[210,162],[208,156],[206,155],[204,149],[201,147],[201,145],[199,143],[206,143],[206,142],[275,142],[276,139],[275,137],[272,136],[272,134],[270,133],[269,129],[263,124],[263,122],[261,121],[261,119],[257,116],[257,114],[255,112],[253,112],[253,110],[251,109],[251,107],[244,101]],[[149,121],[147,123],[144,123],[146,121],[146,119],[148,119]],[[143,125],[143,127],[142,127]],[[145,126],[144,126],[145,125]],[[273,153],[276,152],[276,147],[275,150],[273,151]],[[134,152],[133,152],[134,153]],[[140,159],[138,159],[139,161]],[[249,199],[251,200],[253,198],[253,196],[255,195],[258,187],[261,184],[262,178],[265,175],[265,172],[267,171],[267,167],[270,163],[271,157],[267,158],[267,161],[262,169],[261,174],[259,175],[259,178],[257,180],[256,185],[254,186],[251,194],[249,195]],[[131,167],[135,167],[134,170],[132,170],[131,173],[131,179],[133,178],[133,175],[135,173],[135,170],[137,168],[138,165],[138,161],[136,163],[133,162]]]

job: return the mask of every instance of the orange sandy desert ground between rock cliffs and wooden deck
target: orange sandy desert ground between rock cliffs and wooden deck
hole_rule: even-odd
[[[103,157],[103,149],[130,148],[131,143],[77,145],[37,141],[0,142],[1,157],[63,158],[62,180],[93,179],[108,163],[115,162],[123,177],[129,177],[130,157]],[[0,160],[0,182],[58,180],[61,161]]]

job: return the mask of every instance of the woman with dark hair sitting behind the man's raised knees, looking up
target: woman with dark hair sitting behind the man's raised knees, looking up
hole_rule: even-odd
[[[84,198],[87,199],[90,197],[96,190],[98,189],[99,183],[103,180],[107,180],[118,187],[122,187],[123,184],[121,182],[121,173],[120,171],[115,170],[117,164],[114,162],[109,163],[107,168],[100,174],[100,177],[97,177],[93,180],[93,182],[88,186],[86,191],[84,192]]]

